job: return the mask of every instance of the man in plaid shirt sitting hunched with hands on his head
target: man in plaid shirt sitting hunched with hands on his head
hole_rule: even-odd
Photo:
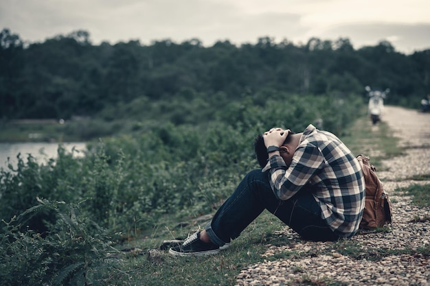
[[[334,134],[309,125],[302,133],[272,128],[254,147],[262,169],[250,171],[205,230],[170,254],[216,254],[264,209],[303,239],[336,241],[359,229],[365,184],[359,162]]]

